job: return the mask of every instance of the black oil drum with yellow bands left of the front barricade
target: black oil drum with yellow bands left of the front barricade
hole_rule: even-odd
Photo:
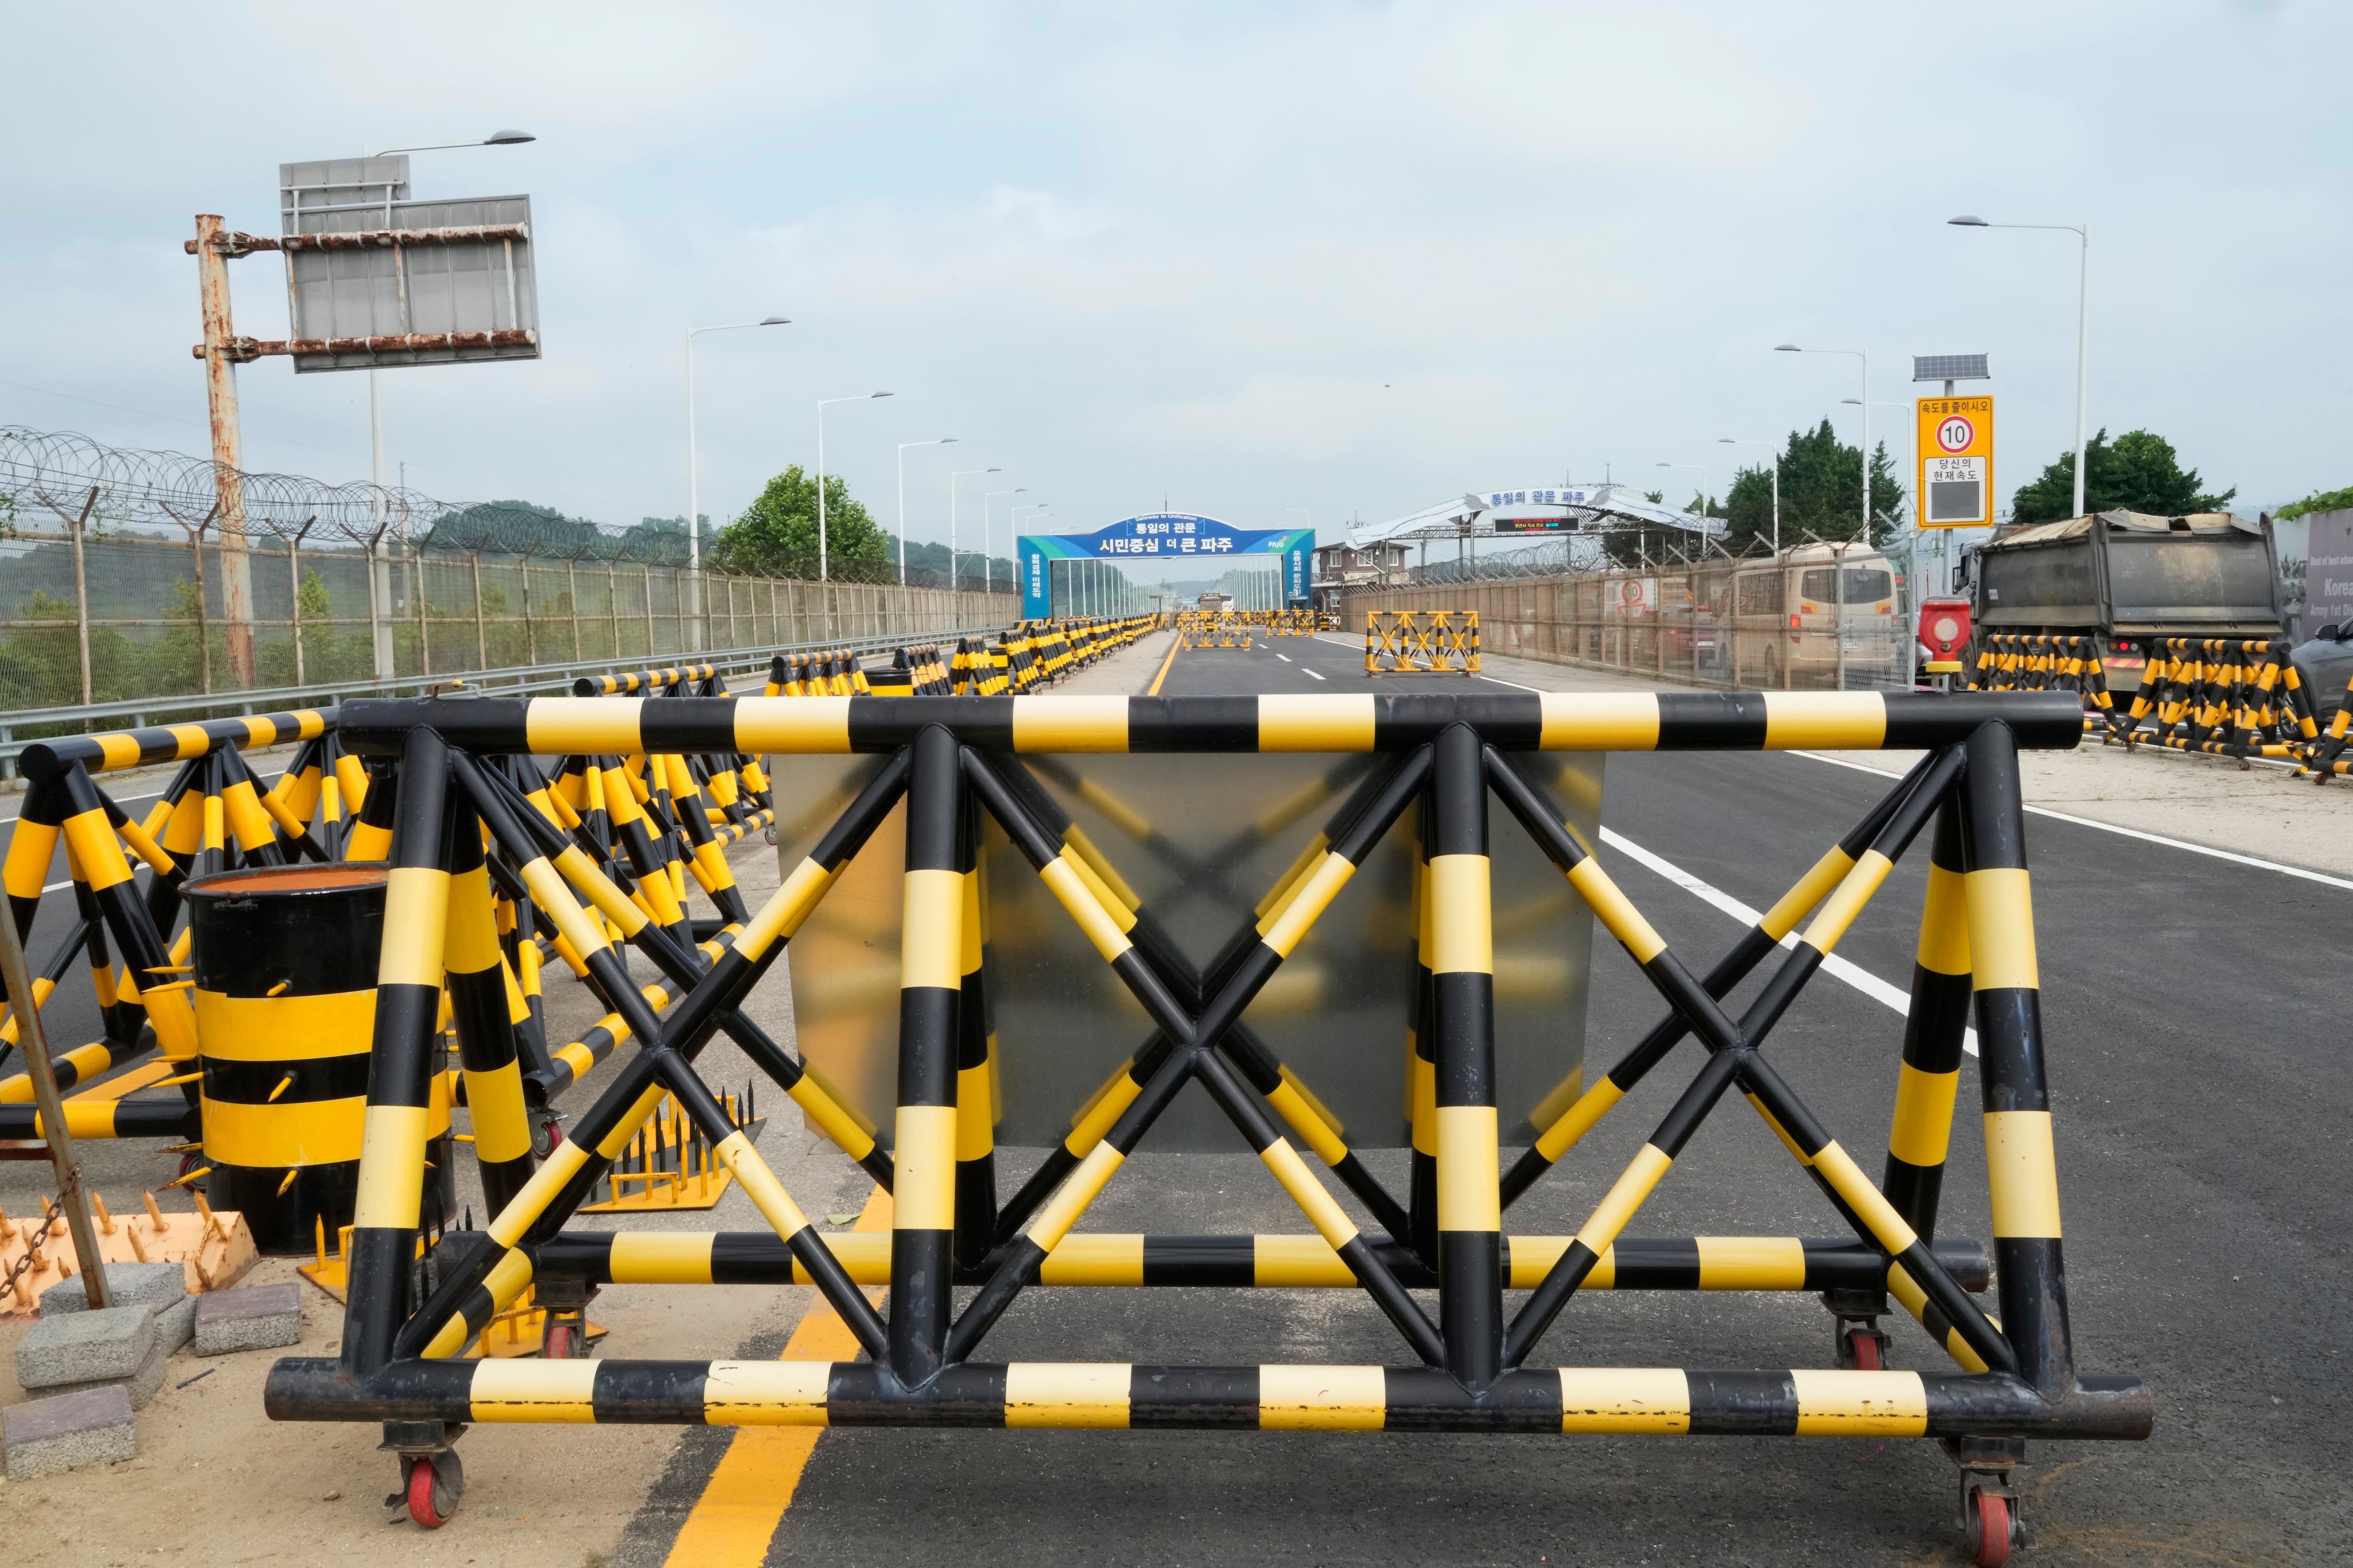
[[[271,1255],[351,1225],[376,1027],[386,867],[264,865],[195,877],[188,900],[205,1178]],[[456,1199],[447,1074],[433,1077],[424,1222]]]

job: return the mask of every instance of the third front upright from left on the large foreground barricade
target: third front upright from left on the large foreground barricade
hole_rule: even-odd
[[[1478,731],[1438,736],[1431,764],[1431,999],[1438,1023],[1438,1307],[1447,1371],[1482,1389],[1504,1371],[1504,1204],[1494,1107],[1494,914]]]

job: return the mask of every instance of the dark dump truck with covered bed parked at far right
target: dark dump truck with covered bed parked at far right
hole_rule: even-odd
[[[1977,637],[2099,637],[2108,691],[2141,689],[2155,637],[2278,637],[2271,522],[2231,512],[2089,512],[1965,550]],[[1972,656],[1974,668],[1974,656]]]

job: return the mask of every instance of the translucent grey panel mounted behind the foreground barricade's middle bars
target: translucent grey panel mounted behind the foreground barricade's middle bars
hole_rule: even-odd
[[[1195,964],[1252,924],[1252,907],[1351,788],[1372,766],[1386,766],[1379,757],[1200,752],[1021,762]],[[1529,762],[1562,818],[1595,842],[1605,757]],[[786,872],[878,766],[878,757],[767,759]],[[786,952],[805,1063],[882,1128],[896,1086],[904,820],[901,806]],[[1412,823],[1407,809],[1245,1013],[1358,1150],[1409,1143]],[[1489,832],[1501,1140],[1527,1145],[1537,1124],[1548,1121],[1539,1107],[1558,1117],[1581,1086],[1593,914],[1511,813],[1489,809]],[[981,844],[1005,1107],[998,1145],[1054,1145],[1087,1095],[1151,1037],[1151,1025],[995,823],[986,823]],[[1186,1086],[1144,1147],[1245,1150],[1198,1084]]]

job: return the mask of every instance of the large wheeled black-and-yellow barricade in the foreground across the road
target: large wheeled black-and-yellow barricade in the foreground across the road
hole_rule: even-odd
[[[449,1432],[478,1420],[802,1422],[802,1425],[1035,1425],[1035,1427],[1313,1427],[1454,1432],[1687,1432],[1934,1436],[1962,1462],[1965,1507],[1986,1549],[2007,1540],[2009,1469],[2031,1436],[2139,1439],[2153,1422],[2129,1375],[2075,1366],[2068,1326],[2059,1185],[2045,1088],[2047,1041],[2019,802],[2019,748],[2064,750],[2082,738],[2075,693],[1405,693],[1261,698],[741,698],[727,703],[381,701],[346,710],[346,743],[400,759],[393,863],[426,867],[445,835],[447,797],[480,813],[494,844],[569,933],[638,1037],[638,1051],[572,1126],[489,1229],[435,1253],[431,1295],[407,1312],[405,1260],[416,1239],[416,1192],[428,1178],[409,1117],[386,1117],[362,1145],[360,1222],[339,1359],[285,1359],[266,1403],[280,1420],[386,1420],[419,1465],[438,1465]],[[501,785],[485,759],[518,752],[638,755],[666,748],[748,755],[866,755],[852,804],[753,914],[708,971],[685,954],[685,997],[654,1018],[579,896],[642,952],[668,938],[609,882],[567,853],[562,832]],[[1826,851],[1737,945],[1746,969],[1772,959],[1755,994],[1727,1009],[1739,976],[1694,973],[1602,872],[1537,771],[1544,752],[1607,750],[1920,750],[1866,823]],[[1038,804],[1049,795],[1033,757],[1085,752],[1339,752],[1360,755],[1358,783],[1271,893],[1240,914],[1207,964],[1186,957],[1153,900],[1120,867],[1089,853]],[[1224,766],[1249,766],[1226,762]],[[1558,769],[1560,762],[1546,766]],[[1668,1023],[1697,1044],[1689,1072],[1659,1095],[1635,1159],[1572,1237],[1506,1237],[1499,1175],[1494,1009],[1499,961],[1492,900],[1492,804],[1567,882],[1659,992]],[[892,877],[901,886],[896,1060],[887,1241],[821,1237],[774,1171],[727,1119],[694,1070],[715,1030],[729,1030],[751,987],[802,931],[885,818],[904,825]],[[1085,933],[1108,980],[1151,1020],[1153,1037],[1073,1119],[1071,1161],[1033,1206],[995,1208],[967,1103],[995,1100],[984,1013],[986,943],[974,966],[974,823],[1002,832],[1012,863],[1035,872],[1038,898]],[[1311,1171],[1301,1150],[1341,1171],[1344,1126],[1280,1060],[1242,1041],[1245,1013],[1285,980],[1285,964],[1402,823],[1417,823],[1417,1044],[1409,1074],[1414,1180],[1405,1201],[1372,1201],[1344,1180],[1367,1234]],[[1901,1048],[1897,1119],[1878,1182],[1774,1065],[1774,1025],[1805,999],[1847,929],[1897,860],[1934,825],[1913,1025]],[[894,830],[896,832],[896,830]],[[551,863],[562,860],[558,870]],[[904,863],[904,865],[899,865]],[[398,877],[400,872],[395,872]],[[1028,884],[1028,879],[1021,879]],[[435,889],[419,889],[419,898]],[[398,893],[398,889],[395,889]],[[986,893],[984,893],[986,898]],[[398,903],[398,898],[395,898]],[[398,910],[388,914],[395,924]],[[1002,940],[1002,931],[998,931]],[[1788,943],[1786,952],[1781,943]],[[440,943],[386,947],[381,987],[438,978]],[[664,959],[668,961],[668,959]],[[1096,971],[1101,973],[1101,971]],[[967,1001],[974,997],[974,1001]],[[412,999],[412,1001],[421,1001]],[[1988,1145],[1991,1248],[1932,1246],[1962,1058],[1974,1011]],[[379,1004],[379,1070],[369,1117],[416,1103],[409,1065],[431,1039],[431,1011]],[[732,1030],[729,1030],[732,1032]],[[741,1034],[739,1034],[741,1039]],[[753,1039],[758,1039],[753,1034]],[[1673,1041],[1668,1041],[1673,1044]],[[776,1053],[781,1058],[781,1053]],[[1546,1138],[1544,1168],[1666,1065],[1666,1048],[1577,1095],[1565,1135]],[[1889,1051],[1894,1058],[1897,1053]],[[762,1051],[753,1060],[784,1077]],[[1426,1063],[1426,1067],[1424,1067]],[[791,1063],[786,1063],[791,1067]],[[807,1077],[800,1079],[807,1084]],[[1306,1237],[1096,1237],[1080,1220],[1176,1093],[1200,1084],[1259,1154],[1266,1175],[1304,1211]],[[1631,1222],[1727,1098],[1758,1112],[1793,1164],[1826,1197],[1826,1220],[1849,1239],[1645,1239]],[[400,1098],[407,1093],[409,1098]],[[664,1093],[711,1140],[767,1220],[753,1248],[713,1237],[619,1232],[584,1237],[562,1222],[645,1126]],[[805,1107],[812,1103],[793,1095]],[[840,1114],[845,1107],[833,1105]],[[816,1112],[812,1112],[814,1117]],[[840,1135],[856,1143],[856,1131]],[[1426,1164],[1421,1159],[1426,1150]],[[1525,1180],[1541,1180],[1544,1168]],[[1426,1171],[1426,1180],[1424,1180]],[[1518,1192],[1511,1192],[1515,1197]],[[979,1208],[979,1213],[967,1213]],[[1402,1234],[1400,1234],[1402,1232]],[[988,1237],[993,1246],[960,1239]],[[1991,1251],[2000,1309],[1972,1286]],[[986,1361],[998,1321],[1031,1286],[1332,1284],[1365,1291],[1405,1356],[1393,1366],[1134,1366],[1127,1361]],[[866,1361],[553,1361],[459,1359],[464,1345],[536,1279],[784,1279],[807,1276],[842,1314]],[[374,1262],[372,1262],[374,1260]],[[861,1281],[889,1284],[878,1312]],[[974,1286],[958,1307],[951,1286]],[[1412,1295],[1435,1284],[1435,1314]],[[1838,1314],[1831,1368],[1682,1371],[1553,1366],[1548,1328],[1598,1288],[1819,1288]],[[1518,1300],[1511,1300],[1518,1295]],[[1948,1371],[1878,1361],[1880,1309],[1901,1309]],[[1857,1333],[1871,1328],[1871,1335]],[[414,1469],[414,1467],[412,1467]],[[431,1476],[428,1476],[431,1479]],[[1991,1559],[1984,1559],[1991,1561]]]

